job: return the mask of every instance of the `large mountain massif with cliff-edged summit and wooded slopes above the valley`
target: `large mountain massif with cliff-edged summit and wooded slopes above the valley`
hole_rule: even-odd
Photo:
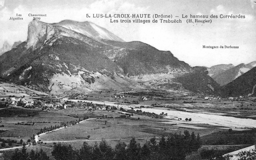
[[[200,92],[213,93],[218,85],[205,70],[191,68],[169,51],[138,41],[124,42],[92,22],[71,20],[31,21],[27,41],[0,56],[3,79],[52,94],[143,89],[152,87],[151,82],[143,84],[148,81],[186,86],[174,78],[194,73],[189,83],[196,83]]]

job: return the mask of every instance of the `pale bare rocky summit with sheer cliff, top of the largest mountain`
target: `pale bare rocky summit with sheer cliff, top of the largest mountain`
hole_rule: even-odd
[[[59,32],[60,31],[60,32]],[[44,23],[33,20],[28,25],[28,36],[26,48],[37,48],[39,44],[44,43],[54,33],[61,33],[68,37],[74,37],[74,33],[83,34],[97,41],[103,39],[124,42],[105,28],[102,28],[92,22],[77,22],[73,20],[63,20],[59,23]],[[41,44],[42,45],[42,44]]]

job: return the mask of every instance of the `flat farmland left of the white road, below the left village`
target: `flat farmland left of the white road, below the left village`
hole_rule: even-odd
[[[3,113],[2,110],[0,113]],[[1,117],[2,122],[0,124],[4,125],[4,127],[1,127],[0,130],[5,130],[5,132],[0,133],[0,137],[14,139],[14,140],[23,139],[26,141],[30,139],[30,137],[32,137],[33,134],[38,133],[41,128],[60,125],[60,122],[67,122],[67,121],[73,121],[78,119],[78,118],[66,116],[63,114],[58,114],[55,112],[47,112],[47,111],[40,111],[40,110],[29,110],[29,109],[23,109],[23,108],[12,108],[12,109],[8,108],[5,110],[6,111],[12,110],[10,113],[13,113],[13,114],[10,116]],[[35,113],[35,114],[33,116],[25,116],[31,113]],[[27,123],[30,125],[15,125],[21,122],[24,122],[24,124]],[[32,125],[33,122],[34,122],[34,125]],[[44,122],[44,123],[41,123],[41,122]]]

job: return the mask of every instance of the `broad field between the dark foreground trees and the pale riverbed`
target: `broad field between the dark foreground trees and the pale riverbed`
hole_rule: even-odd
[[[111,118],[111,119],[94,119],[84,121],[78,125],[67,127],[65,129],[41,135],[39,139],[43,142],[58,141],[84,141],[88,140],[119,140],[135,138],[152,138],[161,135],[168,136],[171,133],[183,133],[184,130],[200,134],[210,134],[214,131],[221,131],[217,126],[195,124],[183,125],[181,121],[164,120],[172,124],[165,123],[155,119],[136,118]],[[106,122],[106,124],[105,124]],[[177,123],[180,123],[176,125]]]

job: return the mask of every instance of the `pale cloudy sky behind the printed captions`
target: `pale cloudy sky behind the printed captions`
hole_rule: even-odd
[[[40,21],[91,21],[123,40],[142,41],[159,50],[171,51],[190,66],[256,61],[256,13],[254,0],[0,0],[0,46],[5,41],[26,41],[28,14],[46,14]],[[21,14],[23,20],[9,20]],[[91,17],[86,17],[89,14]],[[182,23],[111,23],[93,14],[172,15]],[[212,23],[186,23],[183,15],[244,15],[245,18],[208,18]],[[178,17],[175,17],[178,16]],[[113,18],[121,19],[121,18]],[[125,19],[125,18],[122,18]],[[144,18],[145,19],[145,18]],[[204,20],[204,18],[199,19]],[[209,49],[205,46],[239,46],[238,49]]]

